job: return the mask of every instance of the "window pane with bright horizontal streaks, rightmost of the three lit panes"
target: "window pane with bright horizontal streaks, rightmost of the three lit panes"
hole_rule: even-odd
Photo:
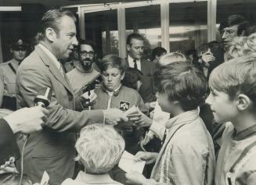
[[[170,50],[186,52],[207,42],[207,2],[170,3]]]

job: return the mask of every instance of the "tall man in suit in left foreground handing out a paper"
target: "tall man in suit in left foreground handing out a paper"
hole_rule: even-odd
[[[42,87],[52,89],[49,120],[40,133],[32,133],[24,155],[24,173],[33,183],[40,182],[44,171],[49,184],[60,184],[74,175],[75,133],[91,123],[116,124],[128,121],[118,109],[81,110],[81,98],[74,91],[59,62],[69,57],[78,45],[75,17],[67,10],[51,9],[41,19],[39,44],[21,63],[16,78],[18,106],[31,107]],[[94,99],[93,95],[88,98]],[[85,94],[82,94],[85,97]]]

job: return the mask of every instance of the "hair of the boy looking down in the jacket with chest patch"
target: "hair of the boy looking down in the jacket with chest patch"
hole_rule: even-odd
[[[100,73],[103,73],[108,68],[117,68],[121,71],[121,73],[125,73],[128,65],[121,57],[117,55],[106,55],[103,57],[101,62],[99,63]]]

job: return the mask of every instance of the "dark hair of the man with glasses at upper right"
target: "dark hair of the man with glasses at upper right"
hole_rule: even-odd
[[[243,16],[234,14],[229,16],[227,20],[222,21],[222,23],[220,24],[219,30],[223,30],[225,27],[233,27],[234,25],[238,25],[237,36],[240,36],[240,34],[242,34],[243,31],[245,31],[245,34],[247,33],[249,22],[245,20]]]

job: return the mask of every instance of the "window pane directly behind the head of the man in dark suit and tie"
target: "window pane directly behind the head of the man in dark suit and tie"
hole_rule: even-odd
[[[160,5],[125,9],[126,37],[139,33],[146,38],[144,57],[150,59],[153,48],[161,46]]]

